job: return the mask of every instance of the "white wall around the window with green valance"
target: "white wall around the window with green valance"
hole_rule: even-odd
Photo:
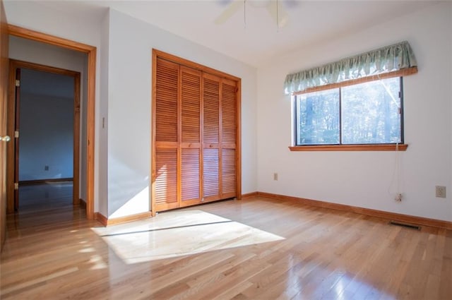
[[[257,190],[452,221],[452,4],[422,11],[273,59],[258,68]],[[302,32],[300,37],[302,38]],[[290,152],[287,73],[408,40],[419,72],[404,78],[403,201],[391,180],[395,152]],[[273,172],[279,180],[273,181]],[[435,198],[435,186],[448,188]]]

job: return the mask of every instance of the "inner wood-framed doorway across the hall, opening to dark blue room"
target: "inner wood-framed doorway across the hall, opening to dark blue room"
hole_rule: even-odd
[[[14,208],[55,207],[68,200],[76,205],[80,73],[16,60],[10,68],[16,107]]]

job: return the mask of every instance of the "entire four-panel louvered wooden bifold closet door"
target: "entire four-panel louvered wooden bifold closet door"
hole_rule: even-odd
[[[239,78],[158,50],[153,63],[153,215],[239,198]]]

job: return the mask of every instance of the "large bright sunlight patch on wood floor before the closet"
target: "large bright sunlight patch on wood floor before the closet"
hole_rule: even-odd
[[[165,212],[93,231],[128,264],[284,239],[202,210]]]

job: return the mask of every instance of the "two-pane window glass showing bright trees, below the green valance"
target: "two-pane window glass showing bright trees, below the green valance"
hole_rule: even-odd
[[[295,146],[403,143],[402,88],[392,77],[295,95]]]

